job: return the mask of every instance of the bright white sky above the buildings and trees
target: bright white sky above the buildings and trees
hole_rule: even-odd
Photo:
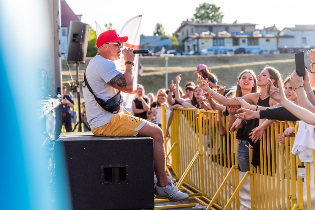
[[[75,14],[82,14],[82,22],[96,29],[95,21],[112,23],[119,33],[132,17],[142,15],[141,34],[152,36],[157,23],[162,24],[166,35],[172,35],[182,21],[191,19],[196,7],[202,3],[215,4],[223,12],[222,23],[252,23],[262,29],[275,25],[278,30],[295,25],[315,25],[315,1],[292,0],[66,0]],[[309,9],[308,9],[309,8]],[[122,36],[122,35],[121,35]]]

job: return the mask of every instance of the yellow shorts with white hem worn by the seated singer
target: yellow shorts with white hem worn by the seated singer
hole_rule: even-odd
[[[144,124],[142,118],[119,112],[109,123],[91,130],[95,136],[136,136]]]

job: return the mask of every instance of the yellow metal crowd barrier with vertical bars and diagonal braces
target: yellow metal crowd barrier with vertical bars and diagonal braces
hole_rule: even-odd
[[[165,108],[162,111],[165,113]],[[167,119],[162,119],[166,133]],[[230,134],[227,129],[227,134],[220,136],[217,119],[218,111],[190,108],[174,111],[171,138],[167,139],[171,141],[167,157],[172,160],[167,163],[168,173],[178,179],[176,186],[196,203],[158,206],[156,209],[193,207],[198,202],[207,209],[240,209],[243,204],[239,191],[244,189],[250,191],[249,209],[312,209],[315,184],[312,183],[311,189],[310,179],[315,179],[315,151],[314,161],[302,164],[299,157],[291,153],[294,137],[286,138],[285,144],[278,142],[278,133],[294,127],[293,122],[271,124],[259,145],[260,166],[255,168],[250,164],[250,171],[242,173],[238,171],[236,133]],[[226,121],[223,116],[223,126],[228,124]],[[295,134],[298,125],[297,122]],[[251,161],[252,150],[249,155]],[[304,181],[297,177],[297,169],[302,165],[306,170]],[[168,200],[155,200],[162,201]]]

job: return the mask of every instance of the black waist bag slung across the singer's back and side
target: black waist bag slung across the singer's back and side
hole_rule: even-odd
[[[91,92],[91,94],[94,95],[94,98],[96,100],[96,102],[105,110],[108,112],[112,112],[113,114],[117,113],[117,111],[120,110],[120,105],[122,102],[122,98],[121,98],[121,92],[119,91],[115,96],[113,96],[112,98],[104,101],[103,99],[100,99],[98,97],[96,97],[96,95],[93,93],[92,88],[90,87],[88,80],[85,77],[85,72],[84,72],[84,80],[83,82],[85,82],[85,85],[82,87],[84,88],[85,86],[88,87],[89,91]]]

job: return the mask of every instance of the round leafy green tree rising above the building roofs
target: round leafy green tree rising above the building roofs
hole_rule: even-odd
[[[221,7],[216,7],[214,4],[203,3],[196,7],[193,22],[202,23],[208,20],[211,23],[218,23],[222,20],[223,14],[220,12]]]

